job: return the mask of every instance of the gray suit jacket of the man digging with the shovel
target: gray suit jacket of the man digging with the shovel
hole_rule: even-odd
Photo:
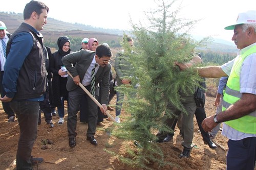
[[[76,53],[68,54],[67,56],[64,56],[61,60],[62,63],[65,65],[67,70],[70,72],[70,74],[75,77],[79,75],[80,82],[82,82],[82,79],[84,75],[86,74],[87,69],[89,68],[90,64],[92,63],[92,60],[94,58],[95,52],[87,51],[87,50],[81,50]],[[76,63],[75,66],[73,66],[72,63]],[[110,70],[111,70],[111,64],[106,65],[105,67],[99,67],[97,74],[96,74],[96,80],[95,80],[95,86],[98,87],[98,83],[102,81],[101,83],[101,104],[108,104],[109,101],[109,78],[110,78]],[[76,88],[78,88],[74,82],[73,79],[69,76],[68,82],[67,82],[67,90],[71,91]]]

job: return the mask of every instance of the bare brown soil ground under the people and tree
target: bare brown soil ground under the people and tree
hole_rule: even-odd
[[[112,100],[112,105],[115,104],[115,98]],[[213,106],[215,98],[208,97],[206,99],[206,114],[215,114],[216,108]],[[15,169],[17,141],[19,137],[19,127],[17,120],[14,123],[7,123],[7,115],[4,113],[2,104],[0,107],[0,169],[12,170]],[[114,116],[115,111],[110,111]],[[125,115],[125,111],[122,110]],[[97,147],[90,144],[86,140],[86,132],[88,125],[77,122],[77,145],[71,149],[68,145],[67,132],[67,108],[65,114],[65,123],[57,125],[58,116],[53,116],[54,128],[49,128],[44,122],[44,114],[42,115],[42,124],[38,126],[37,140],[34,144],[32,155],[42,157],[45,162],[34,166],[34,169],[49,170],[49,169],[139,169],[127,166],[117,159],[116,156],[108,154],[106,150],[113,151],[125,156],[124,144],[127,141],[118,139],[108,133],[105,129],[114,127],[113,122],[105,119],[103,126],[98,126],[95,138],[98,141]],[[121,119],[121,121],[124,121]],[[191,151],[191,157],[179,158],[182,152],[182,138],[179,136],[177,129],[172,142],[159,143],[164,152],[164,160],[172,162],[176,165],[166,165],[159,168],[152,164],[152,169],[225,169],[226,168],[226,150],[218,147],[212,150],[208,145],[203,143],[196,118],[194,118],[194,139],[196,147]],[[42,140],[49,139],[53,144],[47,145],[47,149],[42,149],[44,144]],[[218,134],[216,141],[227,149],[227,138]],[[128,141],[129,142],[129,141]],[[131,147],[135,147],[131,142]]]

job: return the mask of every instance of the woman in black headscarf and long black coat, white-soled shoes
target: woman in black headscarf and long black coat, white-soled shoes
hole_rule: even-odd
[[[50,59],[50,71],[52,77],[53,105],[57,107],[59,121],[58,125],[64,123],[64,101],[68,101],[68,90],[66,88],[68,74],[67,69],[63,66],[62,57],[71,53],[70,39],[67,36],[61,36],[57,40],[58,51],[52,54]]]

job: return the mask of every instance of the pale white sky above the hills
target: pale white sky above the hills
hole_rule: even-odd
[[[23,13],[29,0],[1,1],[0,11]],[[49,17],[101,28],[130,30],[133,22],[145,18],[144,11],[155,8],[154,0],[42,0],[49,8]],[[178,1],[181,2],[181,1]],[[187,19],[201,19],[191,34],[212,36],[231,42],[233,31],[224,27],[236,22],[238,13],[256,9],[254,0],[183,0],[180,14]],[[1,16],[0,16],[1,20]],[[47,27],[47,25],[45,26]]]

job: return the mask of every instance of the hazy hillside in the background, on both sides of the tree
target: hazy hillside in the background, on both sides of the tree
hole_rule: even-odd
[[[0,12],[0,20],[5,22],[8,31],[10,33],[13,33],[18,28],[20,23],[23,22],[23,14],[16,14],[14,12]],[[44,30],[41,31],[46,41],[49,40],[52,42],[56,42],[57,38],[62,35],[70,36],[72,38],[79,38],[81,40],[84,37],[95,37],[100,43],[108,42],[111,46],[113,46],[119,44],[123,32],[129,34],[129,31],[127,30],[96,28],[80,23],[63,22],[50,17],[47,20],[48,24],[44,27]],[[201,38],[203,37],[199,38],[195,35],[195,39]],[[77,47],[75,47],[73,50],[78,50],[79,45],[76,45]],[[211,43],[207,44],[207,47],[199,47],[199,49],[215,52],[237,52],[236,46],[232,45],[230,42],[221,39],[214,39]]]

